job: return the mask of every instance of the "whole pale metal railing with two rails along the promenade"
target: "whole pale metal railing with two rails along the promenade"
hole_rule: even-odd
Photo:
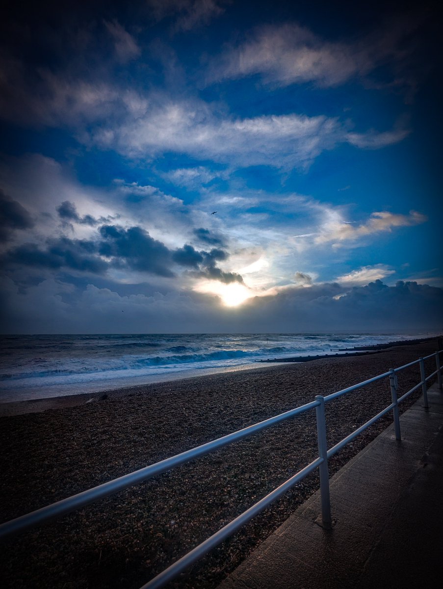
[[[285,421],[286,419],[290,419],[292,417],[295,417],[296,415],[300,415],[301,413],[305,413],[306,411],[310,411],[310,409],[314,408],[316,411],[317,441],[319,454],[318,458],[310,462],[310,464],[305,466],[305,468],[303,468],[295,475],[293,475],[293,477],[291,477],[282,485],[280,485],[280,487],[274,489],[274,491],[270,492],[268,495],[266,495],[266,497],[260,499],[260,501],[258,501],[249,509],[247,509],[247,511],[244,511],[238,517],[233,519],[233,521],[225,525],[221,530],[211,535],[204,542],[201,542],[201,544],[199,544],[196,548],[188,552],[186,555],[181,557],[179,560],[174,562],[170,567],[164,570],[163,573],[160,573],[159,575],[157,575],[157,577],[153,578],[153,580],[143,585],[141,589],[154,589],[157,587],[163,587],[163,585],[168,583],[168,581],[171,581],[190,564],[192,564],[193,562],[201,558],[204,554],[209,552],[211,548],[216,547],[218,544],[220,544],[220,542],[225,540],[227,537],[236,532],[240,527],[242,527],[244,524],[250,521],[250,519],[252,519],[255,515],[263,511],[263,509],[265,509],[273,501],[279,498],[280,495],[283,495],[283,493],[285,493],[287,489],[293,487],[293,485],[297,484],[297,482],[305,478],[308,474],[310,474],[310,472],[315,471],[316,468],[319,469],[320,475],[322,522],[323,525],[326,528],[328,528],[331,525],[328,459],[334,454],[336,454],[340,449],[342,449],[343,446],[345,446],[353,439],[355,439],[366,428],[375,423],[378,419],[380,419],[383,415],[385,415],[391,410],[394,415],[395,438],[398,440],[401,439],[398,403],[404,401],[409,395],[411,395],[414,391],[416,391],[416,389],[418,389],[421,386],[424,398],[424,407],[428,408],[428,380],[437,375],[438,387],[440,389],[442,388],[442,373],[439,358],[439,355],[441,353],[443,353],[443,350],[439,350],[438,352],[432,353],[429,356],[425,356],[425,358],[419,358],[418,360],[414,360],[414,362],[409,362],[408,364],[400,366],[399,368],[391,368],[388,370],[388,372],[384,372],[381,375],[374,376],[373,378],[364,380],[363,382],[359,382],[356,385],[349,386],[348,388],[332,393],[331,395],[327,395],[325,397],[318,395],[316,396],[315,401],[311,401],[310,403],[306,403],[305,405],[296,407],[295,409],[290,409],[290,411],[280,413],[280,415],[276,415],[272,418],[265,419],[265,421],[255,423],[254,425],[250,425],[247,428],[240,429],[239,431],[223,436],[222,438],[217,438],[215,440],[207,442],[207,444],[202,444],[201,446],[197,446],[196,448],[192,448],[190,450],[187,450],[186,452],[181,452],[181,454],[171,456],[171,458],[167,458],[160,462],[156,462],[156,464],[146,466],[145,468],[141,468],[138,471],[131,472],[130,474],[124,475],[123,477],[113,479],[113,481],[105,482],[103,485],[98,485],[98,487],[88,489],[87,491],[83,491],[81,493],[78,493],[77,495],[72,495],[72,497],[68,497],[67,499],[62,499],[62,501],[58,501],[57,503],[48,505],[47,507],[37,509],[37,511],[33,511],[26,515],[22,515],[21,517],[16,519],[12,519],[11,521],[5,522],[4,524],[0,525],[0,539],[10,537],[12,535],[18,534],[19,532],[24,532],[25,530],[29,530],[29,528],[34,528],[35,526],[43,524],[44,522],[47,522],[50,519],[54,519],[61,515],[67,514],[71,511],[74,511],[75,509],[80,509],[81,507],[84,507],[85,505],[97,501],[98,499],[107,497],[108,495],[113,495],[114,493],[131,487],[132,485],[135,485],[138,482],[146,481],[147,479],[150,479],[155,475],[169,471],[172,468],[175,468],[176,466],[184,464],[184,462],[188,462],[190,460],[198,458],[199,456],[209,454],[210,452],[213,452],[218,448],[222,448],[222,446],[232,444],[232,442],[235,442],[242,438],[246,438],[246,436],[262,431],[263,429],[269,428],[270,426],[275,425],[276,423]],[[426,376],[424,361],[432,357],[435,358],[436,369],[429,376]],[[400,398],[397,398],[397,373],[416,364],[419,364],[420,367],[420,382],[417,385],[413,386],[412,389],[410,389]],[[356,391],[356,389],[360,389],[363,386],[367,386],[373,382],[382,380],[384,378],[389,378],[389,387],[391,389],[392,403],[388,405],[385,409],[383,409],[381,412],[377,413],[377,415],[369,419],[369,421],[363,423],[363,425],[361,425],[351,434],[343,438],[340,442],[338,442],[338,444],[335,444],[335,446],[332,446],[332,448],[329,448],[328,450],[326,442],[325,403],[329,403],[330,401],[333,401],[333,399],[345,395],[346,393]]]

